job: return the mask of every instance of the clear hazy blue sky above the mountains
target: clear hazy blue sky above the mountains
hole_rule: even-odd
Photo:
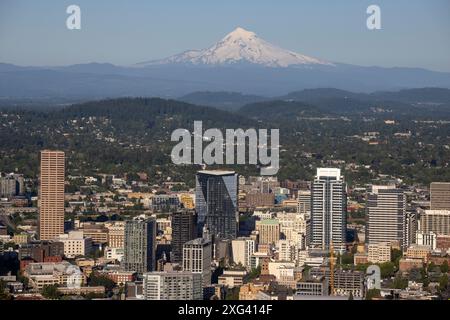
[[[66,28],[71,4],[81,30]],[[382,30],[366,27],[370,4]],[[0,0],[0,62],[130,65],[209,47],[237,26],[328,61],[450,72],[448,0]]]

